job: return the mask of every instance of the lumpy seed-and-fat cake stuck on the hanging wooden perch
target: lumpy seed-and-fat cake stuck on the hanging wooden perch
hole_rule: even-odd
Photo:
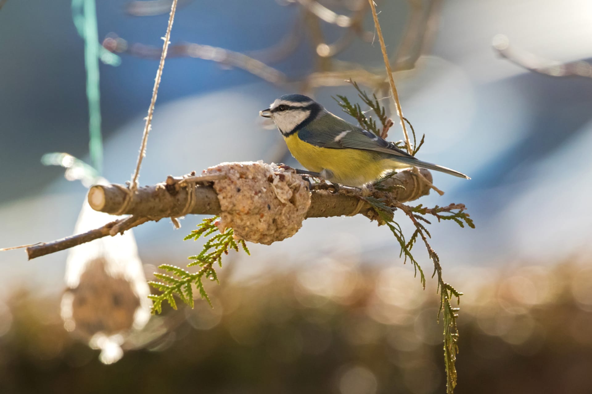
[[[232,228],[238,239],[269,245],[293,236],[310,207],[308,183],[291,168],[257,162],[226,162],[204,175],[214,181],[220,201],[220,230]]]

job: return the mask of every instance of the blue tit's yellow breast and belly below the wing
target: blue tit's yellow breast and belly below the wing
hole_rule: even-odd
[[[377,180],[392,168],[390,161],[380,154],[361,149],[329,149],[308,144],[298,138],[298,132],[284,136],[292,156],[307,170],[321,172],[329,170],[333,173],[330,181],[361,186]]]

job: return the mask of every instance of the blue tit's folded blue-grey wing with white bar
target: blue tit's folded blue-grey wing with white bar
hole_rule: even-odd
[[[415,159],[392,142],[332,114],[321,116],[313,123],[314,132],[310,124],[298,131],[298,137],[308,144],[330,149],[362,149]]]

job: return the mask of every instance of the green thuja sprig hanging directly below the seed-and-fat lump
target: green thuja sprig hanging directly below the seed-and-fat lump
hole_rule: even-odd
[[[193,230],[184,240],[197,240],[201,236],[205,238],[218,232],[218,227],[215,223],[217,219],[218,217],[214,216],[202,220],[202,222],[198,224],[197,230]],[[200,293],[200,297],[208,301],[208,304],[210,304],[211,307],[212,302],[210,296],[208,296],[208,293],[205,291],[203,278],[208,278],[210,281],[215,281],[217,284],[220,284],[214,265],[217,264],[221,268],[222,256],[227,255],[231,249],[238,252],[239,245],[247,255],[250,255],[244,240],[235,240],[233,230],[226,229],[223,233],[218,232],[210,237],[210,239],[204,243],[203,249],[199,255],[189,256],[189,259],[193,261],[187,266],[200,266],[201,268],[199,271],[191,273],[177,266],[168,264],[160,265],[158,268],[168,272],[170,275],[155,272],[154,276],[157,279],[160,279],[160,281],[148,282],[150,286],[160,291],[160,294],[149,295],[149,298],[152,299],[152,313],[162,312],[163,301],[167,301],[173,309],[176,309],[175,295],[179,297],[181,301],[185,302],[185,304],[193,308],[193,285],[195,285],[195,288]]]

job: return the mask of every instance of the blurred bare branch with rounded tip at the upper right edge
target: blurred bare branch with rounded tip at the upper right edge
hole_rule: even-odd
[[[572,61],[561,63],[547,60],[528,53],[520,48],[510,46],[510,40],[506,35],[498,34],[493,38],[493,48],[501,56],[510,60],[517,66],[535,73],[551,77],[585,77],[592,78],[592,64],[587,61]]]

